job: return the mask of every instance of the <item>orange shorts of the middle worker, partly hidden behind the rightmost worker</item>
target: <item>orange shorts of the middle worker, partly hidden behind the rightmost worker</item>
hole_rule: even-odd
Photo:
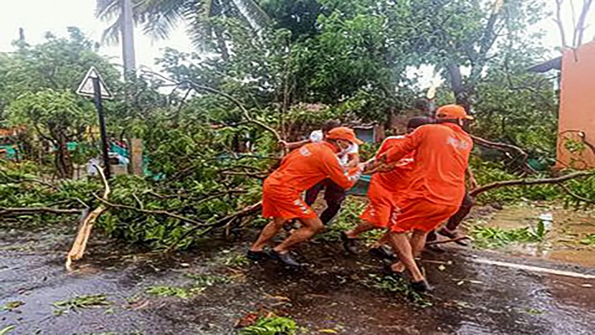
[[[368,188],[370,203],[359,218],[377,228],[389,228],[391,225],[390,218],[398,208],[397,203],[402,195],[402,192],[387,190],[375,178],[372,178]]]

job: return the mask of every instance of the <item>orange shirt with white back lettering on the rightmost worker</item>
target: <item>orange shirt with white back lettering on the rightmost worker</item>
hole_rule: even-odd
[[[396,162],[415,152],[409,176],[408,198],[425,198],[431,203],[459,206],[465,196],[465,170],[473,141],[458,125],[424,125],[394,142],[384,153]]]

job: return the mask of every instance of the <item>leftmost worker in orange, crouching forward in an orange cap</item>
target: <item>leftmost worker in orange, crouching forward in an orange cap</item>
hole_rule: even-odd
[[[262,229],[258,240],[250,247],[250,259],[265,258],[265,244],[283,228],[285,222],[298,219],[302,227],[275,246],[270,256],[287,265],[300,265],[289,255],[289,248],[308,240],[323,227],[320,218],[302,200],[301,194],[325,178],[345,189],[351,188],[359,179],[364,165],[346,173],[337,154],[353,144],[362,144],[353,129],[338,127],[329,131],[324,141],[303,145],[284,157],[281,166],[264,181],[262,216],[273,218],[273,221]]]

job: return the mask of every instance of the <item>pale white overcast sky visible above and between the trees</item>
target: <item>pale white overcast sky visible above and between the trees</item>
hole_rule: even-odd
[[[555,0],[547,0],[547,2],[553,13]],[[575,2],[576,7],[582,4],[582,1]],[[568,4],[564,9],[563,19],[567,35],[570,35],[572,14]],[[95,0],[0,0],[0,51],[12,50],[11,42],[17,39],[19,27],[25,29],[25,36],[29,44],[43,42],[43,36],[48,31],[58,36],[64,36],[67,34],[65,28],[68,26],[79,27],[90,39],[99,41],[102,31],[108,26],[108,23],[96,20],[94,11]],[[590,41],[595,36],[595,8],[591,9],[587,23],[590,23],[590,26],[585,32],[585,41]],[[540,27],[547,31],[547,46],[554,48],[560,45],[558,28],[553,20],[544,20],[540,23]],[[567,39],[571,39],[571,37]],[[137,30],[134,35],[134,43],[137,66],[154,67],[154,59],[161,56],[161,49],[165,46],[179,51],[192,51],[192,45],[186,37],[183,27],[176,30],[168,41],[156,42],[151,41]],[[113,57],[114,63],[122,63],[120,46],[103,46],[100,53]]]

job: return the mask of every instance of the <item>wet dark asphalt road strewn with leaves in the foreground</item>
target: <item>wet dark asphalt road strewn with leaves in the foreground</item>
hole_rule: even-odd
[[[131,252],[92,237],[75,272],[64,256],[73,228],[0,230],[0,332],[8,334],[235,334],[255,311],[293,318],[305,334],[591,334],[595,332],[595,268],[541,258],[444,246],[424,255],[436,293],[422,306],[377,287],[380,263],[318,240],[297,249],[299,271],[276,263],[245,264],[240,241],[211,242],[171,256]],[[243,240],[252,238],[247,234]],[[555,275],[492,261],[571,272]],[[161,297],[149,287],[189,287],[212,278],[193,297]],[[583,277],[576,277],[583,275]],[[213,279],[214,278],[214,279]],[[218,279],[217,279],[218,278]],[[220,280],[224,278],[224,280]],[[60,314],[52,303],[105,294],[109,305]],[[24,304],[2,311],[10,302]]]

